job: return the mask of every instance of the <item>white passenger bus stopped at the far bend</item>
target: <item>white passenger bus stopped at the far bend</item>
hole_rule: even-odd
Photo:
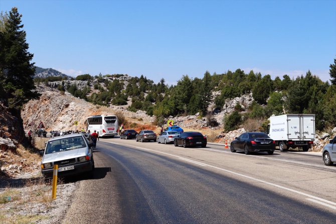
[[[99,137],[118,134],[118,118],[115,115],[94,115],[86,120],[86,131],[97,131]]]

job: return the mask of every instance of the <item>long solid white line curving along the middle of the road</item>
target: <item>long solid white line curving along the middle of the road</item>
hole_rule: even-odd
[[[120,144],[120,143],[115,143],[115,142],[113,142],[113,143],[109,142],[109,143],[134,147],[133,145],[125,145],[125,144]],[[160,151],[147,149],[147,148],[142,148],[142,147],[136,147],[136,148],[146,150],[146,151],[153,151],[153,152],[157,152],[157,153],[161,153],[161,154],[166,154],[166,155],[170,155],[170,156],[177,157],[177,158],[187,159],[187,158],[184,158],[184,157],[181,157],[181,156],[178,156],[178,155],[173,155],[173,154],[166,153],[166,152],[160,152]],[[188,160],[193,161],[193,162],[197,162],[197,161],[194,161],[194,160],[191,160],[191,159],[188,159]],[[307,193],[304,193],[304,192],[301,192],[301,191],[298,191],[298,190],[294,190],[294,189],[291,189],[291,188],[288,188],[288,187],[284,187],[284,186],[281,186],[281,185],[278,185],[278,184],[275,184],[275,183],[267,182],[265,180],[257,179],[257,178],[251,177],[251,176],[247,176],[247,175],[244,175],[244,174],[241,174],[241,173],[237,173],[237,172],[234,172],[234,171],[231,171],[231,170],[228,170],[228,169],[223,169],[223,168],[213,166],[213,165],[209,165],[209,164],[206,164],[206,163],[202,163],[202,164],[204,164],[208,167],[212,167],[212,168],[215,168],[215,169],[219,169],[219,170],[231,173],[231,174],[235,174],[237,176],[242,176],[242,177],[245,177],[245,178],[248,178],[248,179],[251,179],[251,180],[255,180],[257,182],[265,183],[265,184],[268,184],[268,185],[271,185],[271,186],[274,186],[274,187],[278,187],[278,188],[281,188],[281,189],[284,189],[284,190],[287,190],[287,191],[290,191],[290,192],[293,192],[293,193],[297,193],[297,194],[309,197],[309,199],[314,199],[314,200],[319,201],[319,204],[321,204],[321,205],[324,205],[324,203],[322,203],[322,201],[325,202],[325,203],[328,203],[328,204],[336,204],[335,202],[332,202],[332,201],[329,201],[329,200],[326,200],[326,199],[323,199],[323,198],[320,198],[320,197],[316,197],[316,196],[313,196],[313,195],[310,195],[310,194],[307,194]],[[334,206],[329,205],[328,207],[330,207],[332,209],[336,209],[336,206],[334,207]]]

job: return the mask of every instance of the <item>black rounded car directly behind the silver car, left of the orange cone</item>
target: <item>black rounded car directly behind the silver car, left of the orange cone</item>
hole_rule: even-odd
[[[207,146],[207,137],[196,131],[186,131],[174,139],[175,146],[183,146],[185,148],[191,146]]]

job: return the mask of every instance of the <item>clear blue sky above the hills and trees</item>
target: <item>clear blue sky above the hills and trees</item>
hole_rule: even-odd
[[[7,1],[29,51],[67,75],[141,74],[175,84],[242,69],[329,80],[336,58],[333,1]]]

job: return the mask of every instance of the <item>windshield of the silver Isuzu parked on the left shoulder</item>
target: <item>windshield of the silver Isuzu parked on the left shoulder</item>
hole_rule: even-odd
[[[67,151],[77,148],[86,147],[85,141],[82,136],[69,137],[49,141],[47,145],[46,154]]]

